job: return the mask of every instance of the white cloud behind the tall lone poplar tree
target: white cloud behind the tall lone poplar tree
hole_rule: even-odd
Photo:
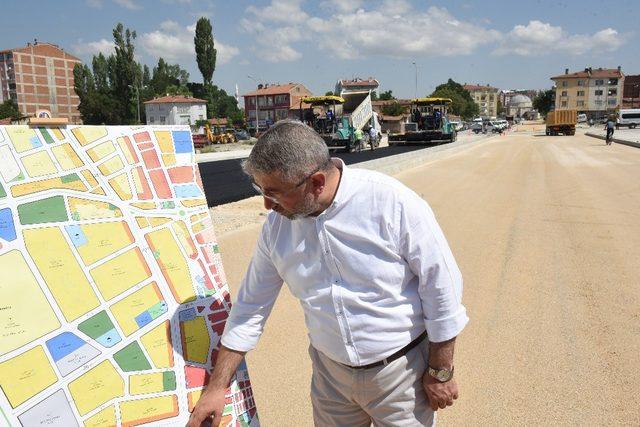
[[[160,24],[158,30],[143,33],[138,37],[138,40],[142,49],[156,58],[163,57],[167,61],[190,58],[195,60],[193,45],[195,31],[195,24],[183,27],[175,21],[167,20]],[[226,45],[215,36],[214,41],[217,50],[217,64],[226,64],[240,54],[237,47]]]

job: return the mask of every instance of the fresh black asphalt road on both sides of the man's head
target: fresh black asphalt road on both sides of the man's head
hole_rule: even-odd
[[[382,147],[374,151],[365,150],[360,153],[336,153],[334,155],[340,157],[346,164],[354,164],[424,148],[425,146]],[[199,163],[209,206],[235,202],[257,194],[251,187],[247,176],[242,172],[241,162],[242,159],[230,159]]]

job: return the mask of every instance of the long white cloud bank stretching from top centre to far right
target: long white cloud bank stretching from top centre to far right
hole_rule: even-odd
[[[305,45],[341,59],[415,59],[468,55],[481,49],[501,55],[581,55],[594,49],[613,51],[625,42],[612,28],[572,35],[541,21],[516,25],[505,33],[491,28],[489,21],[461,20],[442,7],[414,8],[407,0],[323,0],[314,14],[303,10],[302,4],[271,0],[267,6],[246,9],[240,26],[253,36],[258,57],[296,61]]]

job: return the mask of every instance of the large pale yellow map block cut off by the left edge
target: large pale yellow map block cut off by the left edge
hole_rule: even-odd
[[[60,327],[33,272],[18,250],[0,255],[0,355]]]

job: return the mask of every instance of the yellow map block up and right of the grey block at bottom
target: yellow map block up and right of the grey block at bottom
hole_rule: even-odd
[[[111,399],[124,396],[124,380],[111,362],[105,360],[69,383],[69,392],[78,412],[84,415]]]

